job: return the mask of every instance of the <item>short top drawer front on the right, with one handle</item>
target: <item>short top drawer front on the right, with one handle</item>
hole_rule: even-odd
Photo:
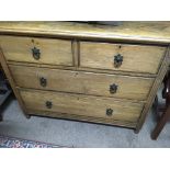
[[[157,73],[166,47],[107,43],[80,43],[80,66]]]

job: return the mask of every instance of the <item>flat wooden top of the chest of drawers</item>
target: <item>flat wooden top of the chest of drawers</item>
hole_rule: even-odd
[[[170,22],[124,21],[118,26],[49,21],[0,22],[0,33],[169,44]]]

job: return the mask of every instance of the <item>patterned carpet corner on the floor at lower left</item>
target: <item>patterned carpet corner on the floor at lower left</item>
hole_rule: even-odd
[[[61,148],[61,147],[63,146],[0,135],[0,148]]]

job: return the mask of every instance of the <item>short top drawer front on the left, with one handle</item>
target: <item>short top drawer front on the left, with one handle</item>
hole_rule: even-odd
[[[71,41],[0,36],[7,60],[72,66]]]

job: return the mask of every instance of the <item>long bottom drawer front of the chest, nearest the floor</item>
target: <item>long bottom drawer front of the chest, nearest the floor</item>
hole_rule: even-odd
[[[121,102],[112,98],[36,90],[21,90],[20,93],[26,109],[36,111],[136,122],[143,109],[140,103]]]

